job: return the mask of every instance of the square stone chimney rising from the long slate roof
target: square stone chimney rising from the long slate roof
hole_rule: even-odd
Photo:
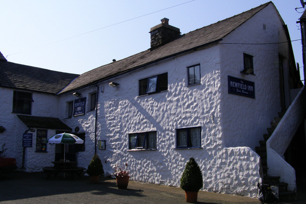
[[[150,29],[151,34],[151,50],[158,48],[181,36],[180,29],[169,25],[169,19],[161,19],[162,23]]]

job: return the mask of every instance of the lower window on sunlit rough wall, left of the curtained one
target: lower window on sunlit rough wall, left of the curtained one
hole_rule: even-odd
[[[129,134],[129,149],[156,149],[156,132]]]

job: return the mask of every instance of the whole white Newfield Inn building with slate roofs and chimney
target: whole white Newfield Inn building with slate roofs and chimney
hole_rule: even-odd
[[[0,82],[0,125],[6,129],[0,144],[6,143],[6,155],[16,157],[19,168],[23,155],[25,171],[41,171],[61,159],[63,148],[44,144],[37,152],[37,135],[73,132],[85,139],[66,148],[66,159],[78,166],[87,167],[96,153],[107,175],[114,164],[127,163],[132,180],[179,187],[194,157],[202,190],[257,196],[261,177],[275,174],[261,168],[255,147],[278,112],[289,108],[291,89],[301,87],[288,30],[275,6],[269,2],[184,35],[164,18],[150,34],[150,49],[80,76],[66,74],[63,84],[54,82],[58,89],[43,84],[44,75],[32,77],[42,79],[35,86],[47,90]],[[2,59],[1,73],[10,69],[5,64],[11,63]],[[18,71],[11,74],[22,78]],[[30,112],[16,113],[14,103],[12,112],[16,91],[32,93],[33,100],[24,99]],[[26,130],[33,145],[23,154]],[[105,149],[99,149],[104,141]],[[281,176],[291,191],[294,173]]]

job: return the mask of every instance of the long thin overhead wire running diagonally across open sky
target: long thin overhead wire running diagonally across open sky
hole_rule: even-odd
[[[47,45],[50,45],[50,44],[55,44],[55,43],[59,43],[59,42],[62,42],[62,41],[65,41],[65,40],[69,40],[71,38],[76,38],[76,37],[79,37],[79,36],[82,36],[82,35],[86,35],[88,33],[92,33],[92,32],[96,32],[96,31],[99,31],[101,29],[106,29],[106,28],[109,28],[109,27],[112,27],[114,25],[117,25],[117,24],[121,24],[121,23],[124,23],[124,22],[127,22],[127,21],[131,21],[131,20],[135,20],[137,18],[141,18],[141,17],[144,17],[144,16],[147,16],[147,15],[151,15],[151,14],[154,14],[154,13],[158,13],[158,12],[161,12],[161,11],[164,11],[164,10],[167,10],[167,9],[172,9],[174,7],[178,7],[178,6],[181,6],[181,5],[184,5],[184,4],[188,4],[190,2],[194,2],[195,0],[191,0],[189,2],[185,2],[185,3],[182,3],[182,4],[177,4],[175,6],[171,6],[171,7],[168,7],[168,8],[165,8],[165,9],[161,9],[161,10],[158,10],[158,11],[154,11],[154,12],[151,12],[151,13],[147,13],[147,14],[144,14],[144,15],[141,15],[141,16],[137,16],[135,18],[130,18],[130,19],[127,19],[127,20],[123,20],[123,21],[120,21],[120,22],[117,22],[117,23],[114,23],[114,24],[111,24],[111,25],[107,25],[105,27],[102,27],[102,28],[99,28],[99,29],[95,29],[95,30],[92,30],[92,31],[88,31],[86,33],[82,33],[82,34],[79,34],[79,35],[75,35],[75,36],[72,36],[72,37],[68,37],[68,38],[64,38],[62,40],[58,40],[58,41],[55,41],[55,42],[50,42],[48,44],[45,44],[45,45],[41,45],[41,46],[38,46],[38,47],[34,47],[34,48],[30,48],[30,49],[27,49],[27,50],[24,50],[24,51],[20,51],[18,53],[13,53],[13,54],[10,54],[10,55],[7,55],[8,56],[11,56],[11,55],[16,55],[16,54],[19,54],[19,53],[24,53],[24,52],[28,52],[29,50],[32,50],[32,49],[37,49],[37,48],[40,48],[40,47],[44,47],[44,46],[47,46]],[[7,58],[6,57],[6,58]]]

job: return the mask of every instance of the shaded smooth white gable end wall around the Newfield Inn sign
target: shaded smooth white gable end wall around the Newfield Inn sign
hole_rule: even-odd
[[[265,8],[220,42],[221,125],[227,147],[249,146],[254,149],[259,146],[270,122],[281,111],[278,55],[284,56],[284,64],[288,64],[288,46],[287,43],[270,44],[287,40],[282,24],[271,8],[272,5]],[[244,53],[253,56],[254,75],[240,73],[244,68]],[[285,66],[285,74],[286,70],[288,67]],[[228,94],[228,75],[254,82],[255,98]]]

